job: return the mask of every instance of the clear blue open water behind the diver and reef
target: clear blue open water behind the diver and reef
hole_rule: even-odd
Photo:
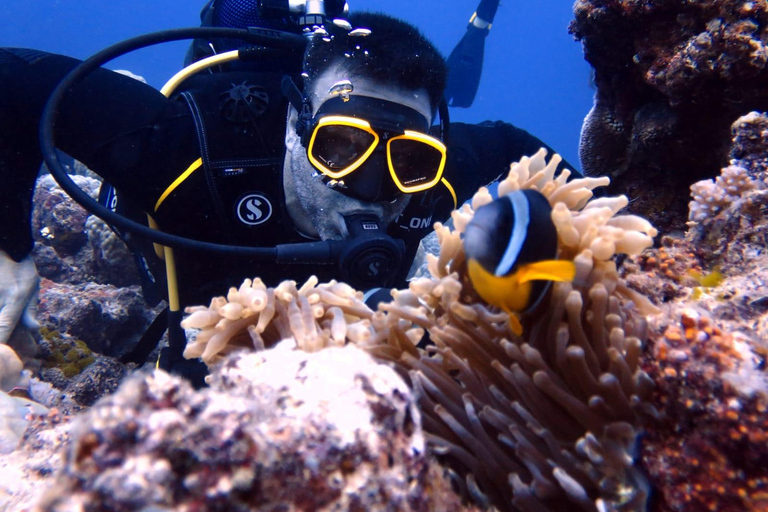
[[[146,32],[196,26],[203,0],[2,0],[0,46],[85,58]],[[382,10],[417,26],[448,55],[464,34],[476,0],[349,0],[354,10]],[[486,41],[485,66],[470,109],[452,119],[504,120],[546,141],[578,166],[581,122],[592,104],[589,66],[568,34],[570,0],[502,1]],[[171,43],[115,61],[160,87],[183,60]]]

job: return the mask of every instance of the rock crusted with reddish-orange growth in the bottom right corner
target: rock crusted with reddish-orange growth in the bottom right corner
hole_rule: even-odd
[[[663,419],[647,430],[642,460],[658,489],[656,510],[768,507],[768,392],[748,393],[729,378],[753,364],[744,348],[692,309],[654,338],[644,368]]]

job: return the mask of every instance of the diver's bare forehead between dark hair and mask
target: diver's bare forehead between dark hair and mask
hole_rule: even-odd
[[[399,103],[419,112],[427,120],[432,121],[432,111],[426,89],[401,89],[360,77],[350,77],[339,68],[331,68],[318,76],[315,87],[310,93],[312,114],[316,114],[320,106],[339,94],[369,96],[382,100]]]

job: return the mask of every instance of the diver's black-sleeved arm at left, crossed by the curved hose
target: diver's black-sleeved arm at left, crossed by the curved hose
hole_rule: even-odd
[[[16,261],[32,249],[32,194],[42,162],[40,116],[53,88],[78,62],[36,50],[0,49],[0,249]],[[116,186],[137,187],[141,180],[128,170],[167,138],[168,130],[159,127],[176,122],[168,114],[176,103],[133,78],[96,70],[62,102],[56,146]],[[178,123],[191,124],[188,119]],[[158,167],[167,161],[160,150],[152,156]],[[145,171],[156,174],[156,169]],[[146,190],[150,183],[144,180],[140,187]]]

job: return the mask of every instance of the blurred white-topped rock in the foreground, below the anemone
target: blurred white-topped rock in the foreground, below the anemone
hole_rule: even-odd
[[[460,509],[394,371],[294,347],[230,356],[200,392],[127,380],[77,420],[35,510]]]

